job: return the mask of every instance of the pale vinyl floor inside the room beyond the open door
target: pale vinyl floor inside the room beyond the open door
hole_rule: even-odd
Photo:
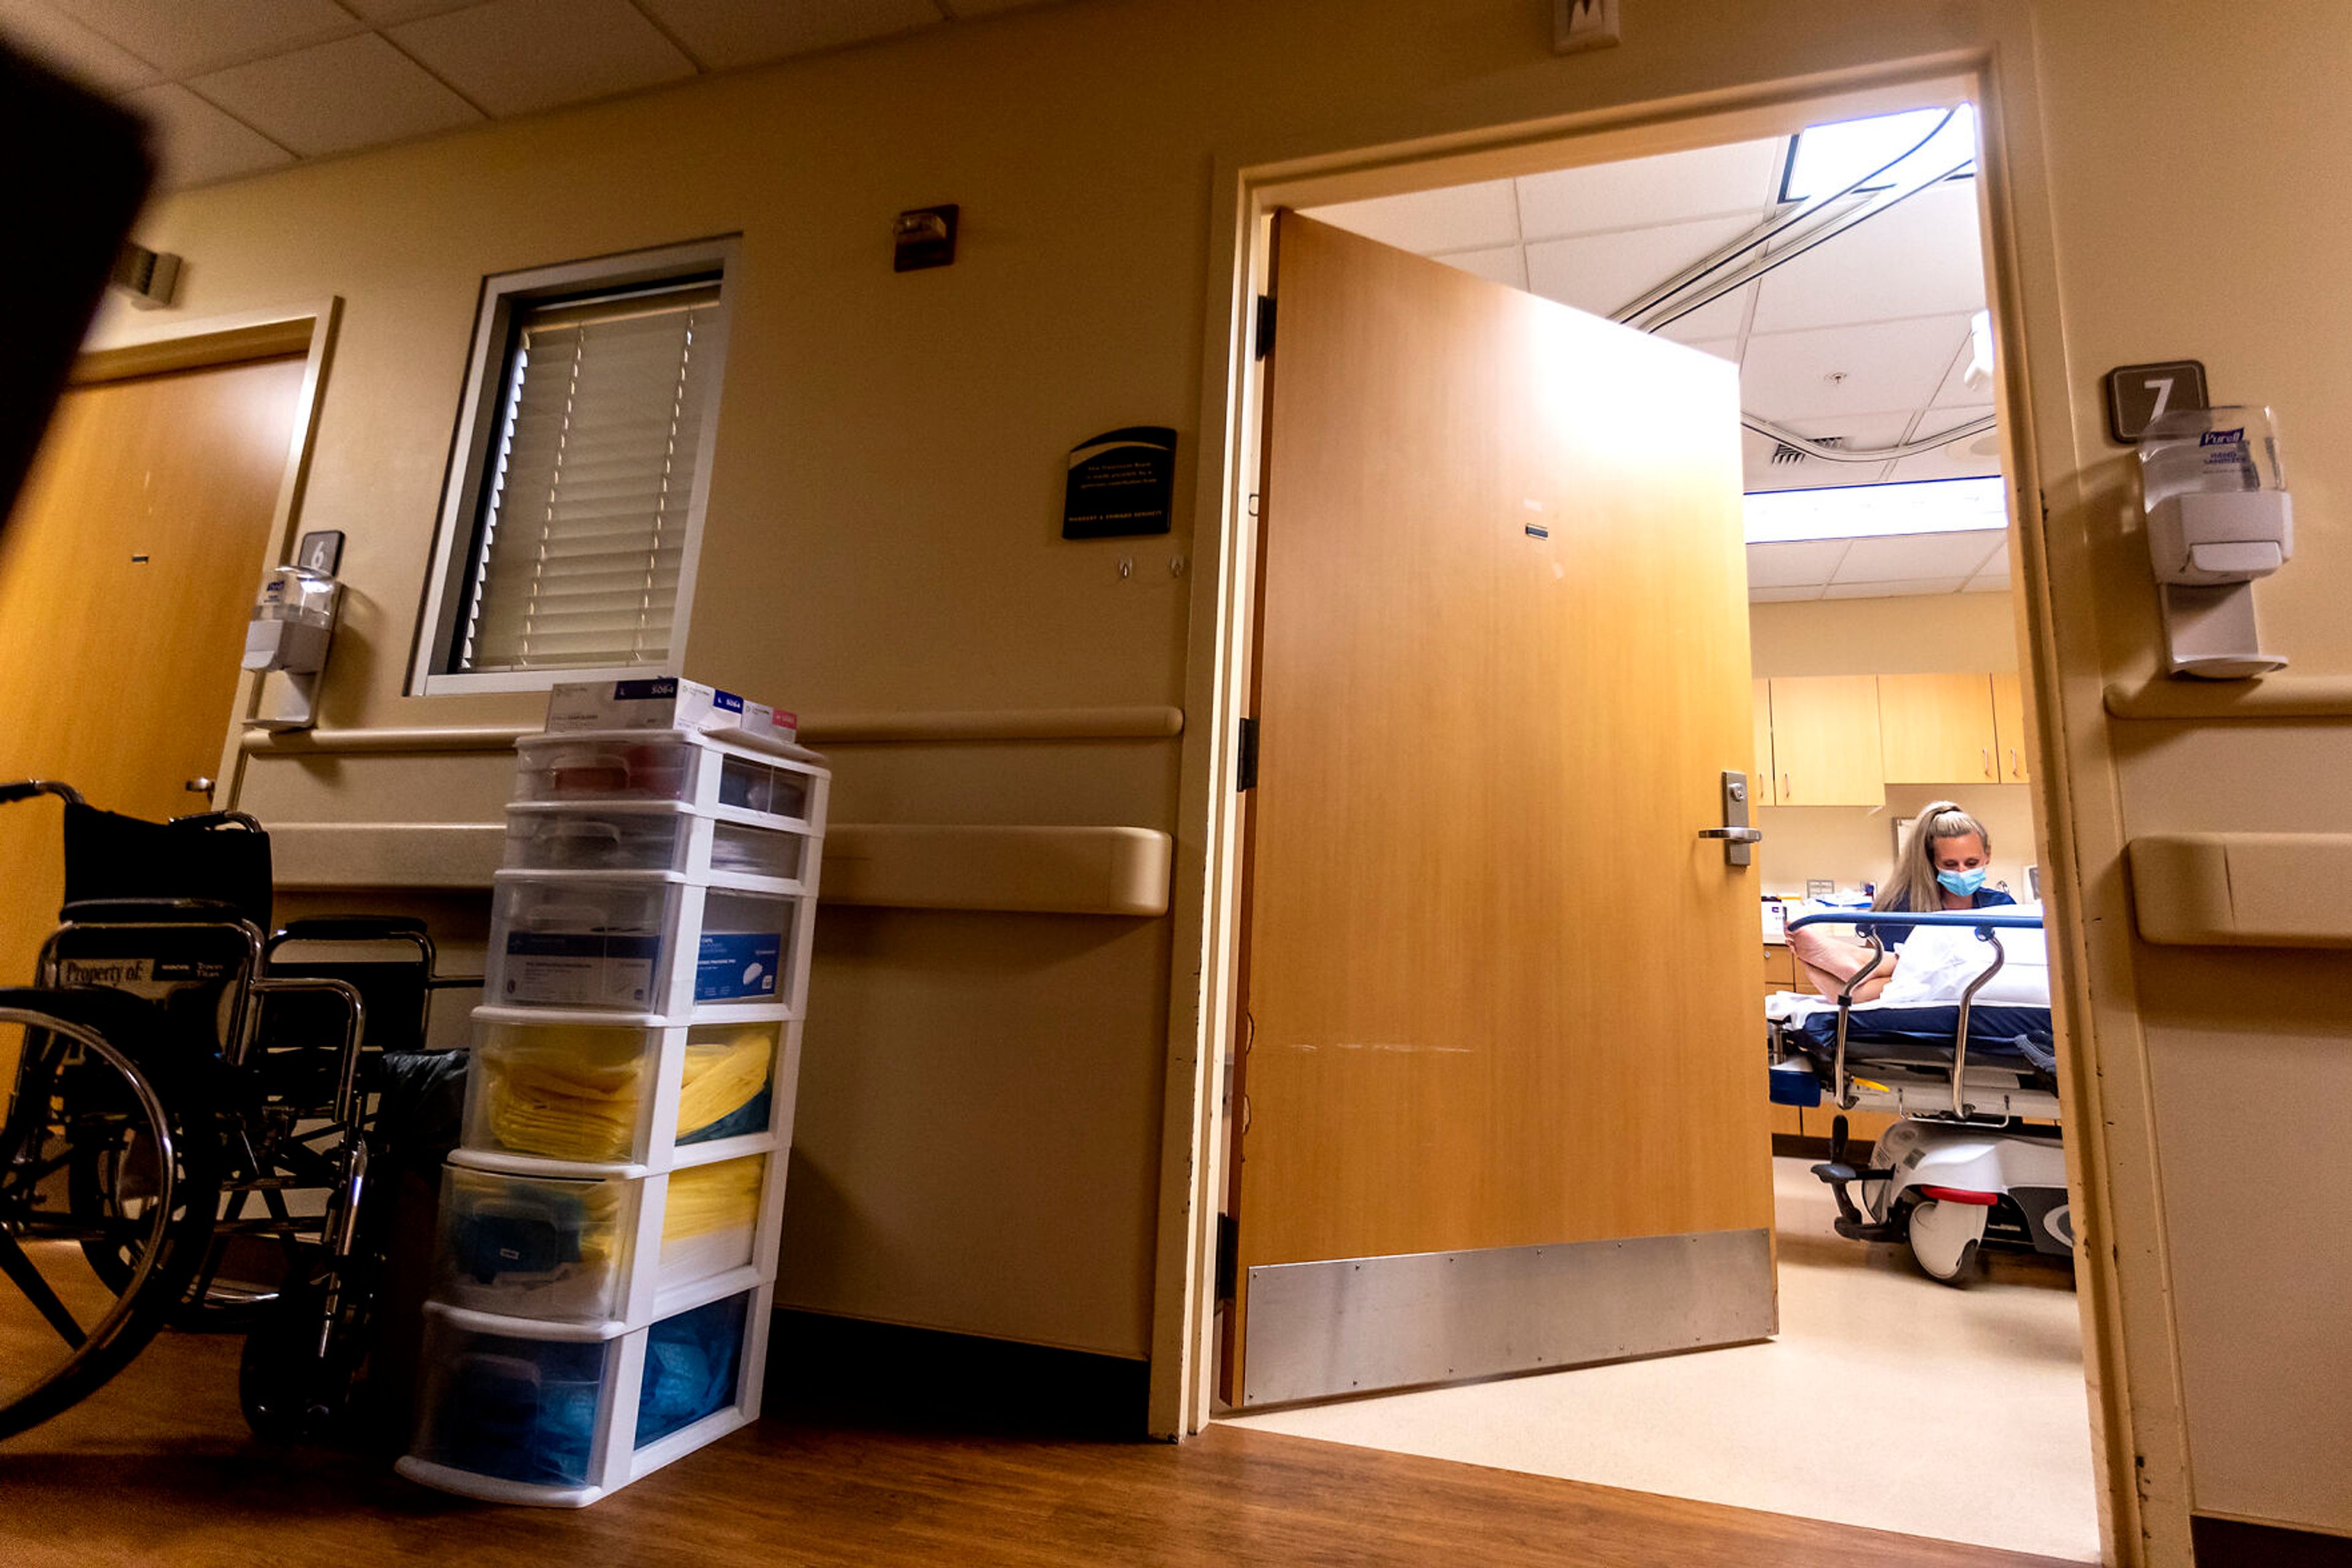
[[[1228,1418],[1672,1497],[2098,1561],[2082,1326],[2063,1262],[1938,1286],[1830,1229],[1776,1159],[1780,1335],[1656,1361]]]

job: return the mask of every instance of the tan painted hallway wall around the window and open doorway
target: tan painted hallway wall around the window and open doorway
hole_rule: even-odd
[[[1759,80],[1992,47],[2013,71],[2004,80],[2023,80],[2027,59],[2039,73],[2004,129],[2023,160],[2013,221],[2030,249],[2060,750],[2093,780],[2065,802],[2091,903],[2117,907],[2129,830],[2333,825],[2324,785],[2352,773],[2340,722],[2220,738],[2119,724],[2124,788],[2096,783],[2098,677],[2152,668],[2154,628],[2096,378],[2201,355],[2218,390],[2281,407],[2303,534],[2296,564],[2260,590],[2263,614],[2298,670],[2352,670],[2340,609],[2352,534],[2338,522],[2352,442],[2336,437],[2352,423],[2340,376],[2352,296],[2331,284],[2352,237],[2352,99],[2338,82],[2352,12],[2336,0],[2220,14],[2197,0],[1625,9],[1623,49],[1555,59],[1531,0],[1101,0],[193,193],[165,202],[143,240],[188,256],[186,317],[348,301],[306,512],[353,534],[334,724],[527,717],[527,703],[400,696],[480,275],[720,230],[743,233],[743,289],[691,668],[811,710],[1171,703],[1188,583],[1150,550],[1122,583],[1117,545],[1058,543],[1054,482],[1058,454],[1105,425],[1202,435],[1202,376],[1223,374],[1200,360],[1204,306],[1228,275],[1207,254],[1218,155],[1696,106]],[[964,205],[962,261],[894,277],[889,214],[934,200]],[[1040,778],[934,750],[858,764],[856,788],[844,766],[840,811],[1084,811],[1190,835],[1174,820],[1176,757],[1174,745],[1070,748],[1068,766]],[[360,769],[343,773],[341,788],[367,790]],[[962,792],[981,780],[993,780],[981,797]],[[1188,846],[1197,853],[1197,837]],[[2124,1072],[2140,1037],[2119,985],[2147,954],[2105,931],[2086,940],[2112,966],[2091,976],[2093,1011],[2114,1025]],[[1023,922],[833,922],[802,1145],[837,1218],[818,1239],[795,1234],[788,1295],[1143,1347],[1167,936],[1077,945],[1087,952]],[[2338,973],[2321,959],[2140,969],[2164,985],[2140,997],[2145,1084],[2136,1067],[2110,1084],[2126,1112],[2112,1138],[2131,1145],[2136,1095],[2152,1084],[2169,1234],[2161,1248],[2140,1232],[2117,1244],[2136,1279],[2169,1269],[2178,1286],[2194,1500],[2352,1526],[2340,1483],[2352,1241],[2333,1201],[2352,1103],[2347,987],[2321,983]],[[889,1009],[866,1006],[884,994]],[[960,1032],[957,1009],[971,1006],[1016,1013],[993,1020],[1000,1032]],[[1082,1048],[1065,1048],[1073,1039]],[[955,1051],[955,1070],[936,1072]],[[990,1079],[985,1114],[974,1074]],[[2218,1081],[2260,1093],[2223,1112]],[[2119,1201],[2154,1227],[2145,1192]],[[887,1255],[866,1262],[875,1248]],[[1084,1302],[1087,1321],[1042,1309],[1058,1300]],[[2169,1305],[2143,1291],[2124,1312],[2133,1378],[2159,1408]],[[2157,1453],[2143,1469],[2164,1549],[2185,1507],[2169,1462]]]

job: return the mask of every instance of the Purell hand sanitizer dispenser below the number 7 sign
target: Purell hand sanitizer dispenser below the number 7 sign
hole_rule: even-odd
[[[2253,623],[2253,581],[2296,552],[2270,409],[2192,409],[2147,425],[2140,496],[2164,595],[2166,670],[2239,679],[2286,668],[2263,651]]]

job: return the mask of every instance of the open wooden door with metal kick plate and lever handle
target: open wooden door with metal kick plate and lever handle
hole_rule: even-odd
[[[1275,303],[1223,1394],[1764,1338],[1738,371],[1289,212]]]

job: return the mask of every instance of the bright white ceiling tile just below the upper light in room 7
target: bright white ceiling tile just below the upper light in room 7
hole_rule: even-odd
[[[1762,287],[1757,331],[1983,310],[1976,181],[1922,190],[1773,268]]]

